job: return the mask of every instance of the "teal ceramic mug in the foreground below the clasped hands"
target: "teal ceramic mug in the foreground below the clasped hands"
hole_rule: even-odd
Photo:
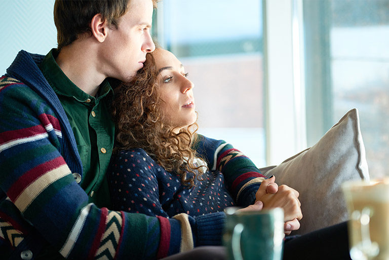
[[[239,212],[226,208],[223,243],[230,260],[281,260],[284,210]]]

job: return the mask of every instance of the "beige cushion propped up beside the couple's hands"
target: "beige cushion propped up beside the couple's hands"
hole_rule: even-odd
[[[347,112],[315,145],[280,165],[261,169],[300,193],[303,218],[292,234],[305,234],[347,220],[341,183],[369,179],[358,110]]]

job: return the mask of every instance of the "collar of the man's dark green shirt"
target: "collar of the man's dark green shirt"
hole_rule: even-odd
[[[40,65],[40,69],[53,88],[57,95],[74,97],[76,100],[85,102],[87,99],[94,100],[95,97],[85,93],[79,87],[77,87],[69,78],[66,77],[65,73],[58,66],[55,58],[58,56],[57,49],[52,49],[44,58]],[[104,80],[97,92],[97,99],[101,99],[106,96],[109,92],[113,93],[112,87],[108,80]]]

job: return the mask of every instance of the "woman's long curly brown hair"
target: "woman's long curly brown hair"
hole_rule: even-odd
[[[206,167],[193,163],[197,155],[191,142],[196,139],[198,125],[195,122],[175,134],[176,126],[163,122],[163,101],[156,91],[158,75],[152,53],[147,53],[144,66],[135,79],[115,88],[112,103],[116,125],[114,152],[142,148],[167,171],[177,173],[181,182],[191,188],[195,178],[200,179],[202,169],[198,171],[199,168]],[[188,172],[192,176],[187,176]]]

